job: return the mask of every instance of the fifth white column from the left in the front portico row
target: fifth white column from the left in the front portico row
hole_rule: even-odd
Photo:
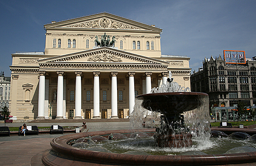
[[[111,119],[118,119],[118,72],[111,72]]]

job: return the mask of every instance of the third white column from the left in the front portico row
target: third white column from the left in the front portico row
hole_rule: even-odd
[[[82,83],[81,83],[81,75],[82,72],[75,72],[76,74],[76,99],[75,99],[75,118],[74,119],[82,119],[81,116],[81,107],[82,107]]]

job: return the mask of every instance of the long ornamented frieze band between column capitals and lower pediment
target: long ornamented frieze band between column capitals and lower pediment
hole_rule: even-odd
[[[89,69],[89,70],[167,70],[167,65],[107,65],[107,64],[65,64],[41,65],[40,69]]]

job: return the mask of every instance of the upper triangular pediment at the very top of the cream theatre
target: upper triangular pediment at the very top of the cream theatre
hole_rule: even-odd
[[[110,13],[99,13],[90,16],[53,22],[44,25],[45,28],[95,28],[95,29],[126,29],[126,30],[150,30],[159,31],[162,29],[149,26],[128,18],[122,18]]]

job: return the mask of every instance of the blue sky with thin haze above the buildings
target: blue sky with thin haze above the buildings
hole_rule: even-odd
[[[0,71],[11,54],[43,52],[43,25],[108,12],[163,29],[162,55],[186,55],[198,71],[223,50],[256,56],[256,0],[0,0]]]

